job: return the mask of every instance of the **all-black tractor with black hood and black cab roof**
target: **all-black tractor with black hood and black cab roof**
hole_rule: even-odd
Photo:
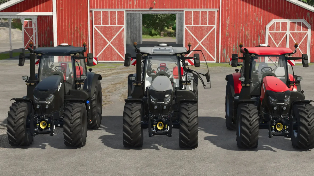
[[[93,66],[93,54],[87,54],[86,44],[74,47],[39,47],[30,51],[30,77],[23,76],[27,95],[13,98],[8,111],[8,140],[12,146],[27,146],[37,134],[53,136],[55,127],[63,127],[64,144],[83,147],[87,128],[100,127],[102,113],[101,75]],[[38,73],[35,74],[35,57]],[[25,55],[20,54],[19,66]]]

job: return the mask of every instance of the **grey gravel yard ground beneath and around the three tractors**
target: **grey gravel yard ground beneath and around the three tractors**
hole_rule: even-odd
[[[14,63],[14,64],[13,64]],[[56,134],[38,135],[26,148],[14,148],[6,139],[6,121],[11,98],[26,94],[22,75],[29,75],[29,65],[0,61],[0,175],[313,175],[313,151],[297,150],[285,137],[268,138],[260,130],[259,145],[254,150],[236,146],[236,132],[225,128],[225,75],[230,67],[210,68],[212,89],[199,86],[199,145],[182,150],[178,129],[172,137],[148,137],[140,149],[126,149],[122,144],[122,113],[127,92],[127,75],[135,66],[107,64],[93,70],[103,76],[104,96],[101,128],[88,131],[86,146],[67,148],[62,129]],[[313,65],[295,66],[303,76],[302,90],[314,99]],[[13,71],[14,70],[14,71]],[[203,70],[205,68],[197,68]]]

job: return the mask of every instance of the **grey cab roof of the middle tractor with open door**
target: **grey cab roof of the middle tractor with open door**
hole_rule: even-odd
[[[172,47],[172,46],[154,46],[154,47],[140,47],[138,48],[142,54],[178,54],[186,53],[187,48],[185,47]]]

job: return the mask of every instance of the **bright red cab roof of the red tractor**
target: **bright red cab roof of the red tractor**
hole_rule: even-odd
[[[293,53],[290,48],[277,48],[277,47],[242,47],[241,53],[245,53],[244,49],[247,49],[250,54],[256,55],[284,55]]]

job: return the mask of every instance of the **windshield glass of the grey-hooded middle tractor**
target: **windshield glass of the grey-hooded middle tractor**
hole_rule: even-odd
[[[149,87],[157,76],[165,75],[169,77],[173,87],[179,87],[179,72],[183,75],[183,67],[181,71],[178,70],[177,56],[148,56],[145,67],[145,86]]]

